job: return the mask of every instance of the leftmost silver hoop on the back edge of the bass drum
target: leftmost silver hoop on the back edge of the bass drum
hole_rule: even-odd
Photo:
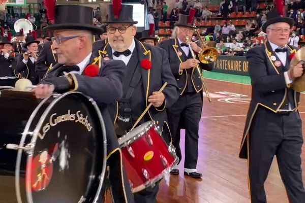
[[[40,103],[37,105],[37,107],[32,112],[31,116],[29,116],[29,118],[26,122],[26,125],[24,127],[24,130],[22,132],[22,136],[21,136],[21,139],[19,142],[19,147],[23,147],[25,139],[26,139],[27,135],[29,134],[29,131],[28,131],[29,127],[32,125],[32,122],[33,122],[37,112],[40,110],[42,105],[49,98],[50,98],[50,96],[48,96],[48,97],[44,98],[42,101],[40,101]],[[28,144],[31,144],[31,142]],[[22,152],[23,152],[23,149],[18,149],[17,157],[16,157],[16,169],[15,169],[15,191],[16,191],[16,198],[17,198],[18,203],[22,202],[21,191],[20,191],[20,165],[21,165]],[[25,153],[27,153],[27,152],[25,152]]]

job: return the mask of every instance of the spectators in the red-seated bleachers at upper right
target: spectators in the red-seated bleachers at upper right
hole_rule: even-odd
[[[273,1],[257,0],[224,0],[217,6],[204,5],[198,0],[176,0],[175,7],[170,12],[167,12],[166,2],[162,0],[148,0],[147,4],[149,13],[154,16],[156,34],[161,40],[169,38],[179,14],[188,15],[190,9],[194,8],[195,25],[199,33],[205,36],[205,40],[215,41],[219,52],[226,55],[243,55],[249,48],[264,43],[265,33],[261,27],[267,20],[268,12],[275,8]],[[295,20],[289,43],[299,46],[305,41],[305,2],[286,0],[285,5],[286,15]]]

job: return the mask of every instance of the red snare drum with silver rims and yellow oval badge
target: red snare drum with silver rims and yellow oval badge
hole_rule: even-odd
[[[159,127],[147,121],[118,139],[132,192],[159,181],[177,164],[172,145],[168,146]]]

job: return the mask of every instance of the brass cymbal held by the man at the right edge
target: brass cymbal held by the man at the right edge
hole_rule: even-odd
[[[290,67],[296,65],[300,60],[305,61],[305,47],[299,49],[296,52],[295,56],[290,61]],[[293,83],[291,84],[291,88],[297,92],[305,91],[305,74],[304,73],[301,77],[298,77],[293,81]]]

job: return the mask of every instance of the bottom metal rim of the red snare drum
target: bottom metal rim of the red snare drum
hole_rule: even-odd
[[[170,143],[168,147],[173,148],[173,145]],[[172,169],[172,167],[174,165],[177,165],[177,163],[179,162],[177,155],[175,153],[173,154],[172,151],[170,151],[170,150],[169,150],[169,152],[175,158],[174,162],[172,164],[170,164],[167,168],[165,168],[162,171],[162,173],[160,173],[157,177],[155,177],[155,178],[153,178],[153,179],[151,179],[149,181],[146,181],[145,183],[143,183],[142,185],[139,185],[138,187],[132,187],[131,186],[131,191],[133,193],[139,192],[139,191],[145,189],[146,187],[151,186],[151,185],[157,183],[159,180],[161,180],[166,174],[168,174],[171,171],[171,169]]]

